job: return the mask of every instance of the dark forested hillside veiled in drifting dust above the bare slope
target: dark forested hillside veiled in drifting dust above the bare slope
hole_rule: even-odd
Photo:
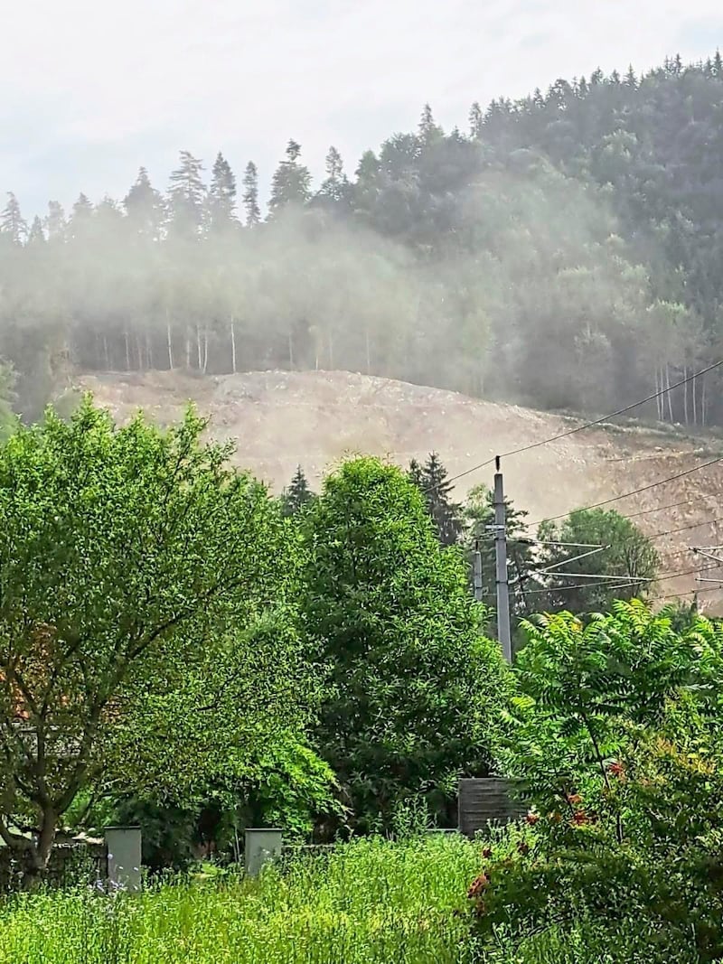
[[[616,408],[717,361],[721,157],[716,54],[474,104],[464,132],[425,107],[353,174],[330,148],[318,184],[290,141],[266,215],[252,162],[237,182],[222,154],[206,172],[188,151],[165,193],[141,169],[123,199],[51,201],[32,221],[10,194],[15,408],[38,415],[77,369],[269,367]],[[647,415],[723,423],[718,373]]]

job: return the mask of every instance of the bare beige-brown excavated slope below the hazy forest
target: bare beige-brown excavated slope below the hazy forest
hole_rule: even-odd
[[[96,401],[120,420],[142,408],[168,424],[193,399],[210,417],[211,434],[235,442],[235,462],[277,491],[298,465],[317,482],[353,454],[384,456],[406,466],[412,458],[437,451],[449,474],[457,475],[498,452],[576,425],[558,415],[338,371],[219,377],[177,371],[105,373],[79,377],[76,387],[92,390]],[[515,505],[528,510],[530,522],[537,522],[690,469],[708,461],[718,447],[717,442],[671,433],[600,426],[505,459],[505,486]],[[492,467],[471,472],[460,479],[458,495],[480,482],[490,485],[492,478]],[[636,517],[651,535],[705,522],[656,539],[662,575],[667,575],[700,565],[688,547],[723,543],[723,519],[710,523],[723,517],[721,496],[723,469],[718,465],[622,499],[614,507],[629,515],[659,510]],[[694,587],[695,576],[665,578],[658,592],[669,596]],[[702,594],[701,605],[720,611],[723,593]]]

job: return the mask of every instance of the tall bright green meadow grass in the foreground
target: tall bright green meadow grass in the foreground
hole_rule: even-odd
[[[480,846],[459,838],[362,840],[258,880],[166,884],[137,897],[85,892],[0,905],[0,964],[607,964],[651,961],[635,926],[548,933],[484,958],[466,891]],[[464,917],[454,915],[465,911]],[[609,947],[606,948],[606,945]]]

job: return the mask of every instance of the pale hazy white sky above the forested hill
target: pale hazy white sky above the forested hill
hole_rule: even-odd
[[[179,148],[263,182],[293,137],[314,174],[335,144],[445,127],[557,77],[723,47],[719,0],[0,0],[0,191],[26,215],[80,191],[165,188]]]

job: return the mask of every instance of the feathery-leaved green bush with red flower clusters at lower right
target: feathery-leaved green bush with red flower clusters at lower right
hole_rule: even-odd
[[[485,853],[475,933],[489,946],[506,928],[522,945],[535,930],[625,921],[646,961],[715,960],[720,629],[698,619],[679,634],[668,614],[621,603],[587,627],[564,614],[528,632],[502,756],[530,812]]]

